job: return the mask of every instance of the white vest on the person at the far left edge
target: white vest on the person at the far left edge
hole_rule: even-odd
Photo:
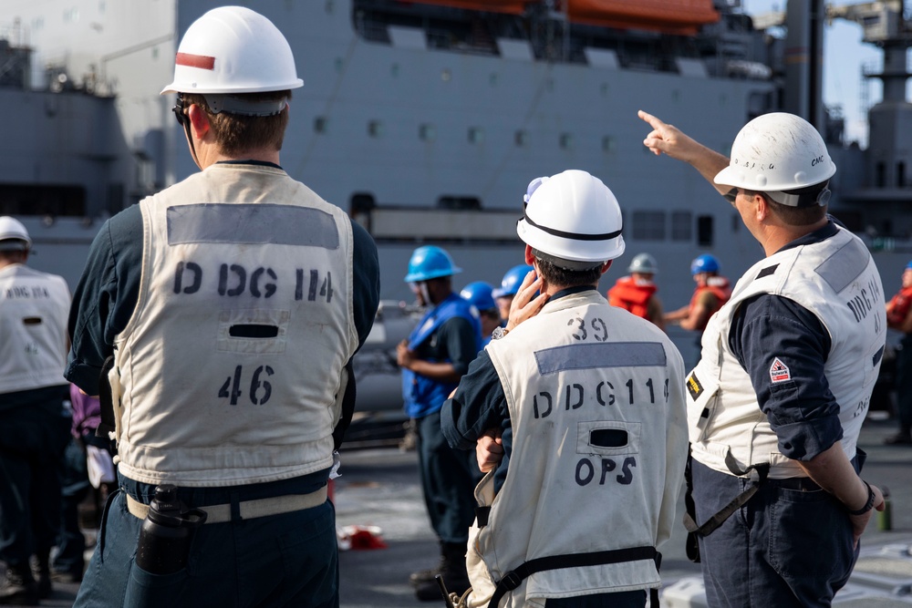
[[[66,385],[69,289],[25,264],[0,269],[0,394]]]

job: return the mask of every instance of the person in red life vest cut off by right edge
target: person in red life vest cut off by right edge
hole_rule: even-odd
[[[896,409],[899,432],[884,439],[887,445],[912,444],[912,262],[903,272],[899,292],[886,303],[886,326],[903,334],[896,358]]]

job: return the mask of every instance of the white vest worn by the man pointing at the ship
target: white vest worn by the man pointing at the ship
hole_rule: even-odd
[[[824,376],[839,403],[845,456],[855,458],[858,433],[884,354],[886,312],[871,254],[854,234],[842,229],[824,241],[773,253],[754,264],[735,285],[731,300],[710,319],[700,363],[687,381],[693,458],[732,474],[725,464],[731,451],[740,470],[769,462],[772,479],[805,476],[793,459],[779,451],[776,434],[757,403],[751,376],[729,348],[731,321],[739,305],[758,294],[801,304],[829,333],[832,346]],[[780,390],[793,383],[788,367],[775,358],[770,380],[782,386]]]

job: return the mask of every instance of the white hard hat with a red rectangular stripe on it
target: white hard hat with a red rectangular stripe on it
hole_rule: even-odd
[[[187,29],[161,93],[261,93],[304,86],[273,23],[244,6],[220,6]]]

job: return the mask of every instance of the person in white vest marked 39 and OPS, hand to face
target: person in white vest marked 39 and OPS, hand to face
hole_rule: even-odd
[[[460,605],[643,606],[658,600],[657,547],[687,455],[681,356],[597,291],[625,249],[601,180],[534,180],[516,232],[534,273],[443,407],[451,445],[478,441],[479,466],[496,469],[475,492],[472,593]]]

